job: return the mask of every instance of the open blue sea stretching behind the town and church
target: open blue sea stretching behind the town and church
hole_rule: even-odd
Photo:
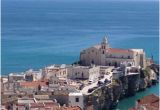
[[[159,62],[158,1],[2,0],[1,4],[1,75],[71,64],[81,50],[100,44],[104,36],[110,47],[142,48]],[[128,100],[135,101],[121,101],[120,110],[127,110],[123,107],[130,105]]]

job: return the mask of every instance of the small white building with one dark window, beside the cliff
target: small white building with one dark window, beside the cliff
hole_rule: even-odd
[[[79,106],[84,110],[84,99],[82,93],[69,93],[69,106]]]

